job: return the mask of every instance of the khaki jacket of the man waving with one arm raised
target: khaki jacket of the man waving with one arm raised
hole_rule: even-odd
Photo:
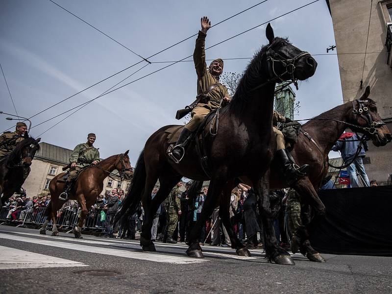
[[[195,51],[193,53],[193,60],[197,73],[197,95],[204,94],[213,84],[219,83],[218,77],[212,75],[210,71],[207,70],[207,64],[205,63],[204,47],[206,36],[205,33],[199,31],[196,39]],[[219,107],[222,98],[230,97],[227,88],[223,85],[219,85],[212,89],[207,96],[210,98],[209,101],[206,103],[197,103],[197,106],[214,110]]]

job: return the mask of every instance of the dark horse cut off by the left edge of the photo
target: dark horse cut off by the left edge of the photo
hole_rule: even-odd
[[[31,166],[35,152],[40,149],[38,143],[41,138],[35,140],[28,137],[27,132],[24,140],[19,142],[15,149],[0,161],[0,196],[4,203],[15,192],[19,192],[25,182],[23,170]]]

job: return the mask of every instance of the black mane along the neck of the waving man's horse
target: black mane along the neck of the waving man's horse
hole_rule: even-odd
[[[274,44],[282,40],[288,42],[287,38],[276,37],[273,39],[271,45],[273,46]],[[249,90],[260,85],[263,81],[263,77],[260,75],[260,73],[263,67],[263,56],[264,53],[267,51],[268,47],[270,47],[270,44],[264,45],[255,53],[253,59],[247,65],[243,76],[240,79],[240,82],[238,83],[237,89],[231,99],[231,102],[227,105],[227,107],[224,107],[222,111],[235,115],[241,115],[244,112],[245,104],[249,97]]]

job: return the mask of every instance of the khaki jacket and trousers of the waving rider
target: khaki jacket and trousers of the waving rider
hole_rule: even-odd
[[[213,84],[219,83],[218,77],[212,75],[207,70],[207,64],[205,63],[205,37],[206,34],[199,31],[196,39],[195,51],[193,53],[193,60],[195,63],[195,69],[197,73],[197,95],[204,94],[209,87]],[[204,117],[212,110],[219,108],[221,99],[224,97],[230,97],[227,88],[223,85],[219,85],[212,89],[207,96],[209,100],[206,103],[197,103],[195,108],[192,110],[192,119],[185,126],[190,131],[195,131],[200,123],[203,122]]]

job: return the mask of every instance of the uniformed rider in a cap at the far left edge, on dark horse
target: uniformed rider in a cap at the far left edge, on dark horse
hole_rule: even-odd
[[[15,132],[4,132],[0,136],[0,160],[11,154],[16,145],[25,139],[27,125],[23,122],[16,123]],[[30,173],[30,167],[23,166],[23,178],[27,178]]]

